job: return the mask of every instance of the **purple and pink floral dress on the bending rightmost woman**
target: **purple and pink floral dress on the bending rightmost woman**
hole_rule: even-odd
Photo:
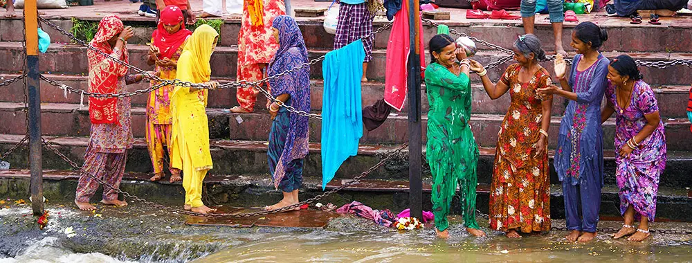
[[[632,86],[632,96],[626,108],[617,104],[616,96],[615,86],[609,83],[605,97],[615,109],[615,149],[620,149],[646,126],[648,122],[645,115],[658,114],[658,102],[649,85],[642,80],[637,80]],[[653,134],[637,143],[639,147],[629,156],[615,156],[620,213],[624,215],[631,205],[635,208],[636,219],[644,215],[649,221],[653,221],[658,183],[666,168],[666,134],[663,122],[659,122]]]

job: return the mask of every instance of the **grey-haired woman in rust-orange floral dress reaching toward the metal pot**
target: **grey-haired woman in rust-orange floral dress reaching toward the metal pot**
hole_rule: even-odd
[[[482,77],[491,99],[509,91],[511,105],[498,133],[497,152],[490,193],[490,228],[507,237],[550,230],[550,182],[547,155],[552,97],[536,89],[551,84],[549,73],[538,64],[545,59],[535,35],[514,42],[514,60],[500,82]],[[472,62],[474,71],[482,65]],[[479,71],[477,71],[479,72]]]

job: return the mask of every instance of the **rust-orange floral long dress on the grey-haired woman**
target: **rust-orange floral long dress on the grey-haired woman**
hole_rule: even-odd
[[[509,86],[511,105],[504,116],[495,153],[490,193],[490,228],[523,233],[550,230],[550,176],[548,155],[534,158],[543,118],[539,96],[550,75],[545,69],[529,82],[519,81],[519,64],[507,68],[500,81]]]

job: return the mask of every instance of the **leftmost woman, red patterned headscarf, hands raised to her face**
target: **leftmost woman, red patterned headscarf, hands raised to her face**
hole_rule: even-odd
[[[125,91],[127,67],[110,57],[127,63],[125,44],[132,35],[132,28],[125,28],[122,21],[115,15],[107,15],[101,19],[98,32],[89,43],[100,52],[91,49],[86,51],[89,57],[89,92],[122,93]],[[86,146],[82,168],[86,173],[118,188],[122,174],[125,173],[127,149],[131,149],[133,142],[130,129],[130,100],[129,98],[89,97],[89,118],[91,136]],[[81,175],[75,197],[75,203],[81,210],[95,209],[89,203],[89,199],[97,189],[97,181],[86,174]],[[112,188],[103,190],[101,203],[127,206],[127,202],[118,200],[118,192]]]

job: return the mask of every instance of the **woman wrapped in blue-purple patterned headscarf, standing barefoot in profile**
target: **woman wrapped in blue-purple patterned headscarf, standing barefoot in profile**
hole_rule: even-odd
[[[279,49],[269,66],[269,75],[279,75],[307,63],[307,48],[298,24],[293,18],[281,15],[272,23]],[[310,111],[310,68],[269,81],[271,96],[283,105],[301,111]],[[275,188],[280,188],[284,199],[266,210],[275,210],[298,203],[298,188],[302,184],[303,158],[308,152],[308,118],[299,116],[274,102],[269,105],[273,120],[269,132],[268,164]]]

